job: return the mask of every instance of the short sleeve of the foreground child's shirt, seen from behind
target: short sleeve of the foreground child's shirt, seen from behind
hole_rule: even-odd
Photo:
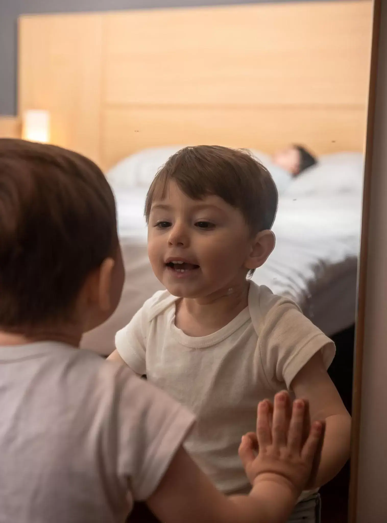
[[[194,421],[185,407],[120,366],[117,374],[117,466],[134,501],[156,490]]]

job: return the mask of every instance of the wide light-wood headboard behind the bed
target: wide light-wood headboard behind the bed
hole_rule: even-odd
[[[108,168],[211,143],[361,151],[372,2],[130,10],[19,19],[19,111]]]

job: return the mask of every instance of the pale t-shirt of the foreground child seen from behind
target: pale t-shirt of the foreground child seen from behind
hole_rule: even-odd
[[[0,347],[0,523],[118,523],[193,416],[130,369],[59,343]]]

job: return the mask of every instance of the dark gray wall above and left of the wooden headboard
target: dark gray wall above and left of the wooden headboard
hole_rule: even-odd
[[[276,0],[0,0],[0,115],[15,115],[16,107],[16,23],[30,13],[71,13],[155,7],[254,4]],[[291,1],[291,0],[283,0]]]

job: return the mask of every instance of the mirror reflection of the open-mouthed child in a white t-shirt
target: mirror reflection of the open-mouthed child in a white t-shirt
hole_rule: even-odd
[[[292,517],[314,522],[318,487],[349,458],[351,419],[326,371],[332,340],[290,299],[247,279],[274,248],[277,202],[270,173],[246,152],[196,146],[170,157],[145,203],[149,258],[167,290],[117,333],[110,359],[196,415],[185,448],[225,494],[251,488],[236,451],[254,430],[256,401],[284,388],[309,400],[326,437]]]

